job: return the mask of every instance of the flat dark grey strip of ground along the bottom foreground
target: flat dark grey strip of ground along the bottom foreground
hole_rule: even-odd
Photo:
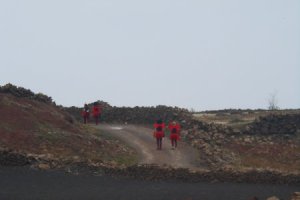
[[[138,181],[109,176],[73,175],[28,167],[0,167],[0,199],[172,199],[260,200],[269,196],[290,199],[300,186]]]

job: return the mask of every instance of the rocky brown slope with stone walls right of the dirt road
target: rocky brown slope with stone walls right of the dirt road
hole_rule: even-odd
[[[226,121],[232,116],[227,114],[222,118]],[[300,113],[297,110],[264,112],[261,117],[257,116],[242,126],[220,124],[220,121],[214,123],[213,120],[207,123],[197,118],[190,122],[185,136],[188,142],[199,149],[201,162],[210,169],[267,169],[300,173],[299,120]]]

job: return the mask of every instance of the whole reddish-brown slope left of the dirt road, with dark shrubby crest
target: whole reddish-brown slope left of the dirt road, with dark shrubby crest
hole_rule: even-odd
[[[0,165],[22,164],[24,159],[18,158],[23,157],[45,162],[44,167],[80,162],[130,165],[135,161],[131,149],[83,126],[46,95],[11,84],[2,86],[0,113]]]

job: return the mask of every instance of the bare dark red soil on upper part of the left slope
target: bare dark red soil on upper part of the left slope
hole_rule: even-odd
[[[0,94],[1,144],[10,148],[36,145],[43,134],[51,132],[82,133],[72,118],[51,104]]]

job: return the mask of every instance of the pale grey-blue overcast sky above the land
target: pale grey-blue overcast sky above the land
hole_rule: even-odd
[[[0,0],[0,85],[82,106],[300,108],[299,0]]]

